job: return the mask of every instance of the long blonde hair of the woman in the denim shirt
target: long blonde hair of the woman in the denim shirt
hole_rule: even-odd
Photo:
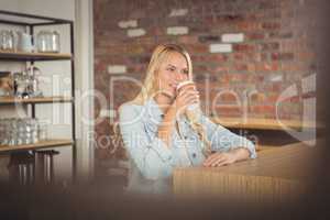
[[[147,66],[147,70],[146,70],[146,77],[144,79],[143,82],[143,87],[141,89],[141,91],[138,94],[138,96],[129,101],[129,103],[135,103],[135,105],[144,105],[146,100],[148,100],[150,98],[153,98],[153,96],[155,96],[160,88],[158,88],[158,70],[161,67],[161,64],[168,57],[168,55],[170,53],[179,53],[182,54],[185,59],[187,61],[187,66],[188,66],[188,78],[189,80],[193,81],[193,65],[191,65],[191,59],[190,56],[188,54],[188,52],[177,45],[177,44],[161,44],[158,45],[151,57],[151,61],[148,63]],[[125,102],[128,103],[128,102]],[[191,121],[190,121],[191,122]],[[205,154],[209,154],[210,153],[210,142],[207,139],[206,135],[206,131],[202,124],[198,123],[198,122],[194,122],[190,123],[191,128],[198,133],[200,140],[204,142],[206,148],[205,148]],[[114,136],[119,136],[120,135],[120,129],[119,129],[119,124],[118,122],[113,124],[113,132],[114,132]],[[120,135],[121,139],[121,135]],[[119,140],[114,139],[113,144],[119,144]],[[114,145],[116,146],[116,145]],[[122,144],[123,146],[123,144]]]

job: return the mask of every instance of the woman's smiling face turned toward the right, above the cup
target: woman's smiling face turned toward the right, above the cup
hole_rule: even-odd
[[[178,52],[172,52],[160,66],[160,89],[170,97],[175,96],[176,87],[180,81],[189,79],[186,58]]]

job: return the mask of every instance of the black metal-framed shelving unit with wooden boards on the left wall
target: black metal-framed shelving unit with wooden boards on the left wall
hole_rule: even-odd
[[[55,19],[50,16],[40,16],[35,14],[25,14],[11,11],[0,10],[0,24],[15,25],[26,28],[31,35],[34,34],[35,26],[50,26],[50,25],[68,25],[69,26],[69,37],[70,37],[70,53],[25,53],[25,52],[8,52],[0,50],[0,61],[1,62],[29,62],[34,64],[34,62],[52,62],[52,61],[69,61],[70,62],[70,78],[72,78],[72,94],[70,97],[38,97],[38,98],[28,98],[20,99],[15,97],[0,97],[0,106],[8,105],[26,105],[31,106],[31,117],[35,118],[35,105],[43,103],[72,103],[72,139],[50,139],[45,141],[40,141],[35,144],[26,145],[0,145],[0,153],[10,153],[15,151],[36,151],[46,147],[59,147],[59,146],[73,146],[73,168],[75,175],[76,167],[76,128],[75,128],[75,47],[74,47],[74,22],[69,20]],[[1,111],[1,109],[0,109]]]

